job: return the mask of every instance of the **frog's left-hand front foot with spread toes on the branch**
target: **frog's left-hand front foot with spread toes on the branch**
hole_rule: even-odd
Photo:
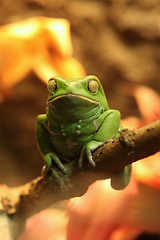
[[[64,173],[66,174],[66,169],[59,157],[54,152],[49,152],[44,155],[45,166],[42,169],[42,175],[45,175],[49,169],[52,167],[53,163]]]

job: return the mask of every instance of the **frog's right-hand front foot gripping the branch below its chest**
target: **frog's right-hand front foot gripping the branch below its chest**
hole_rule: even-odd
[[[80,154],[80,157],[79,157],[79,167],[82,167],[82,163],[83,163],[83,159],[84,159],[85,154],[86,154],[86,156],[88,158],[88,161],[91,164],[91,166],[95,167],[96,164],[93,161],[92,152],[103,144],[104,144],[103,142],[97,142],[97,141],[94,141],[94,140],[92,140],[89,143],[86,143],[81,150],[81,154]]]

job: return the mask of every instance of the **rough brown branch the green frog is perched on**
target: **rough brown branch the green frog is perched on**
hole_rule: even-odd
[[[67,174],[58,169],[18,188],[0,186],[0,214],[25,219],[49,205],[83,195],[90,184],[106,179],[111,173],[160,151],[160,120],[137,130],[124,129],[121,136],[93,153],[96,167],[84,161],[66,164]],[[13,238],[14,239],[14,238]]]

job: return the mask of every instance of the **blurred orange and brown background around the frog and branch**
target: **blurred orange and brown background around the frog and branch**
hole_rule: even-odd
[[[53,75],[96,75],[124,127],[160,118],[159,11],[151,0],[1,1],[1,184],[19,186],[41,174],[35,119],[45,112]],[[39,213],[20,239],[157,239],[159,159],[157,153],[135,163],[124,191],[97,182],[68,207]]]

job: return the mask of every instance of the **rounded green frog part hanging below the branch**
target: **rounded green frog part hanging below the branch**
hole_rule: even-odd
[[[126,166],[111,175],[111,186],[116,190],[124,189],[130,181],[131,165]]]

